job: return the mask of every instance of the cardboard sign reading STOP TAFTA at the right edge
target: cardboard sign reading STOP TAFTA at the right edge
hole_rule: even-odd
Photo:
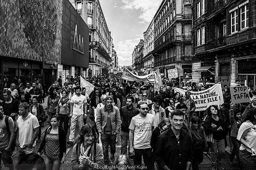
[[[250,101],[249,89],[247,86],[230,86],[230,94],[234,104],[247,103]]]

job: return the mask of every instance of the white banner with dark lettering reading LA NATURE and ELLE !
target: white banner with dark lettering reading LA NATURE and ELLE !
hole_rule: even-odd
[[[186,90],[175,88],[174,92],[180,92],[185,96]],[[196,111],[205,111],[210,105],[221,105],[224,103],[221,84],[215,84],[209,89],[203,91],[190,91],[190,97],[195,101]]]

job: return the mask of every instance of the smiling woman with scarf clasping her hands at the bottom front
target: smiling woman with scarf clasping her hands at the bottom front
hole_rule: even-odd
[[[73,147],[71,165],[73,170],[93,169],[104,165],[103,151],[97,141],[95,129],[85,124],[80,132],[78,142]]]

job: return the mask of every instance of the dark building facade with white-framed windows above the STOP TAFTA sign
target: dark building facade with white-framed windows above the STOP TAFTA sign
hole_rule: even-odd
[[[255,90],[256,0],[193,3],[193,81],[234,85]]]

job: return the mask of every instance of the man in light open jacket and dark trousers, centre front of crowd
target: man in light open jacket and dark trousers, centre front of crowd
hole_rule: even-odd
[[[119,109],[112,105],[113,98],[106,97],[106,104],[97,111],[96,125],[101,135],[104,163],[109,164],[108,146],[110,145],[110,161],[115,159],[116,135],[121,128],[121,118]]]

